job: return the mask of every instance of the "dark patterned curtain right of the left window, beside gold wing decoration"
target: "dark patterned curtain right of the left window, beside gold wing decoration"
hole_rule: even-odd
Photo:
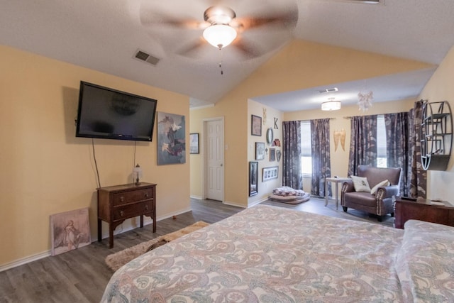
[[[331,177],[329,120],[311,120],[312,143],[312,186],[311,194],[325,197],[325,180]],[[331,182],[328,184],[328,195],[331,195]]]

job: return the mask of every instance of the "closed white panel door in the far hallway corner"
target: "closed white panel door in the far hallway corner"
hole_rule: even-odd
[[[205,192],[206,199],[223,202],[224,132],[223,119],[205,121]]]

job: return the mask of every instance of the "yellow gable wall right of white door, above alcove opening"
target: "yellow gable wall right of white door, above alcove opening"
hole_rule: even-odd
[[[403,60],[373,53],[364,53],[348,48],[294,40],[274,57],[258,67],[250,77],[218,101],[215,106],[191,111],[191,132],[201,129],[203,119],[225,116],[226,162],[225,162],[225,202],[247,207],[270,194],[274,184],[259,184],[258,197],[248,197],[248,163],[254,160],[251,145],[255,138],[250,136],[250,115],[262,116],[261,105],[248,100],[254,97],[292,90],[319,87],[325,84],[347,82],[370,77],[379,77],[399,72],[408,72],[431,67],[426,63]],[[407,108],[408,106],[404,106]],[[375,106],[372,111],[378,111]],[[270,109],[268,109],[270,111]],[[321,111],[316,116],[325,115]],[[348,111],[348,115],[358,114],[358,109]],[[340,111],[345,114],[345,109]],[[296,119],[306,114],[295,113]],[[282,113],[277,116],[283,116]],[[284,119],[289,120],[286,114]],[[268,114],[271,119],[272,116]],[[346,121],[333,121],[333,128],[341,127]],[[282,123],[282,120],[280,121]],[[265,135],[263,135],[265,136]],[[282,138],[282,136],[281,136]],[[265,137],[263,137],[263,140]],[[201,195],[202,179],[201,158],[192,157],[191,194]],[[282,162],[282,160],[281,160]],[[260,169],[265,162],[260,162]],[[282,172],[282,170],[279,170]],[[345,175],[342,168],[336,168],[338,175]]]

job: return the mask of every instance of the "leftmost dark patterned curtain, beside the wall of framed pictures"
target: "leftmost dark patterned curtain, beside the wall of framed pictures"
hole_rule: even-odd
[[[301,121],[282,122],[282,185],[303,189]]]

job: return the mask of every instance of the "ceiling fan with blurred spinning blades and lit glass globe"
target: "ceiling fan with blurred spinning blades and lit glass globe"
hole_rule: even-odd
[[[236,11],[244,11],[244,16],[238,16],[231,9],[233,6],[223,5],[223,2],[228,1],[218,1],[204,10],[203,20],[200,5],[188,7],[184,11],[186,14],[192,13],[192,16],[179,17],[182,12],[175,10],[175,4],[172,7],[162,4],[161,9],[156,9],[151,7],[150,2],[153,1],[147,1],[141,7],[141,23],[154,30],[154,35],[159,35],[162,28],[178,30],[179,39],[175,43],[179,45],[175,46],[175,53],[186,57],[198,57],[206,50],[206,45],[218,49],[231,45],[228,47],[235,49],[241,59],[260,57],[287,42],[298,20],[298,8],[294,0],[231,1],[231,4],[236,5]],[[186,31],[192,33],[186,35]],[[195,38],[194,31],[197,33]],[[185,40],[186,37],[190,38]],[[161,40],[165,39],[171,37],[167,35]]]

